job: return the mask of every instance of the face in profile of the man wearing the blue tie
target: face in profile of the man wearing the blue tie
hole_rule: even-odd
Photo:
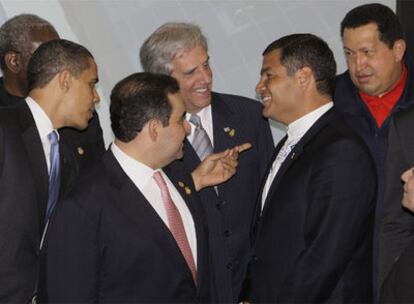
[[[66,126],[85,129],[95,111],[100,98],[96,91],[98,70],[95,61],[89,59],[89,67],[79,76],[71,76],[70,88],[67,92]]]

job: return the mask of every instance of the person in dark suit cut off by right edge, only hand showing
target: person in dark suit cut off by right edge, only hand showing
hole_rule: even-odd
[[[381,287],[380,301],[384,303],[414,302],[413,127],[414,107],[396,113],[390,124],[383,230],[395,238],[392,249],[398,251]]]

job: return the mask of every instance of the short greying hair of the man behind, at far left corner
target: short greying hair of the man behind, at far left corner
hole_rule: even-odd
[[[58,36],[53,25],[32,14],[22,14],[7,20],[0,27],[0,67],[4,71],[4,56],[7,52],[17,52],[30,55],[32,33],[34,30],[46,28]]]

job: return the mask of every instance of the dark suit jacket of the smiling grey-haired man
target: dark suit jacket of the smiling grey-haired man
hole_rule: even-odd
[[[239,157],[231,180],[200,192],[209,226],[216,301],[237,301],[250,255],[250,223],[265,168],[274,149],[262,106],[253,100],[226,94],[212,95],[214,151],[221,152],[245,142],[252,148]],[[200,163],[188,141],[183,162],[193,171]]]

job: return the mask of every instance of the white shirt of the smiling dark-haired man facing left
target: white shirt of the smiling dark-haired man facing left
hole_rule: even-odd
[[[333,107],[333,102],[328,102],[323,106],[309,112],[308,114],[302,116],[301,118],[290,123],[287,127],[287,139],[280,149],[278,155],[273,161],[272,167],[269,170],[269,174],[266,179],[265,186],[262,192],[262,210],[269,193],[269,189],[275,179],[277,172],[279,171],[282,163],[285,161],[286,157],[293,150],[294,146],[299,142],[299,140],[305,135],[306,132],[315,124],[315,122],[325,114],[330,108]]]

